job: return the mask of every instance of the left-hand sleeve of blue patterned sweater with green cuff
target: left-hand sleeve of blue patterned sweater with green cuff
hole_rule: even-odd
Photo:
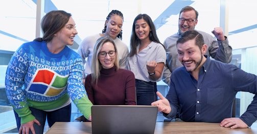
[[[24,45],[17,49],[13,54],[6,71],[5,85],[6,93],[10,104],[19,117],[20,123],[24,124],[35,119],[31,114],[26,97],[22,90],[24,79],[28,70],[28,56],[24,49]]]

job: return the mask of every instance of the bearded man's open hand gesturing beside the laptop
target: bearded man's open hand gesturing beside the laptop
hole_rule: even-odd
[[[159,91],[157,91],[156,94],[160,99],[158,101],[153,102],[151,105],[157,106],[159,112],[169,114],[171,112],[171,106],[168,99],[165,96],[163,96]]]

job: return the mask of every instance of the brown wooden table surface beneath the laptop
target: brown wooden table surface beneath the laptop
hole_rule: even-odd
[[[91,122],[56,122],[46,134],[56,133],[92,133]],[[251,128],[230,129],[221,127],[220,123],[156,122],[154,133],[257,133],[257,123]]]

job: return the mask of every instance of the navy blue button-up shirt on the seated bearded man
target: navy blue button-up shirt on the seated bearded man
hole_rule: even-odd
[[[205,56],[206,57],[206,56]],[[247,111],[240,117],[248,126],[257,119],[257,78],[232,64],[207,60],[199,72],[198,81],[184,66],[171,75],[170,90],[166,96],[171,105],[173,118],[191,122],[221,122],[230,118],[232,104],[238,91],[254,95]]]

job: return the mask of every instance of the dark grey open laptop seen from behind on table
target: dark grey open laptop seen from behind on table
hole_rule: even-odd
[[[91,107],[92,133],[154,133],[158,107],[94,105]]]

